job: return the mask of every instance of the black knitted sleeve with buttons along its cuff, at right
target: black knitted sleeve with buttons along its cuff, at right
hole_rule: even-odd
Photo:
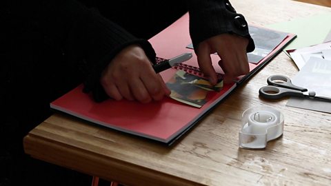
[[[190,36],[194,48],[218,34],[238,34],[250,40],[247,52],[254,50],[254,41],[242,14],[238,14],[228,0],[188,0]]]

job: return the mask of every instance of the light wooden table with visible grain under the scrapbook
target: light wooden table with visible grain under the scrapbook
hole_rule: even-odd
[[[285,0],[232,5],[256,25],[331,11]],[[297,71],[282,52],[171,147],[54,114],[24,138],[25,151],[127,185],[331,185],[331,114],[259,98],[270,74]],[[240,149],[241,114],[259,105],[283,112],[283,136],[265,149]]]

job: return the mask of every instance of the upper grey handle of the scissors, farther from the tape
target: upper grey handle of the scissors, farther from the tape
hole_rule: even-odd
[[[283,76],[283,75],[270,76],[267,79],[267,83],[268,83],[268,85],[285,87],[285,88],[292,89],[292,90],[300,90],[301,92],[308,91],[306,88],[293,85],[291,79],[289,79],[287,76]]]

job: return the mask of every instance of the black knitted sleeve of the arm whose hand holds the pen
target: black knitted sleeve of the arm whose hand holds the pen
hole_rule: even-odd
[[[95,101],[107,99],[99,79],[101,72],[114,56],[131,44],[141,45],[150,61],[155,61],[152,45],[138,39],[116,23],[104,18],[93,8],[74,0],[32,0],[34,17],[44,32],[60,43],[70,63],[83,70],[86,76],[84,92],[92,92]]]

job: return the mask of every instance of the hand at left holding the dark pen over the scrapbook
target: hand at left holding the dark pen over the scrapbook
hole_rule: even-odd
[[[170,94],[139,45],[121,50],[103,70],[100,82],[108,96],[117,101],[124,98],[149,103]]]

